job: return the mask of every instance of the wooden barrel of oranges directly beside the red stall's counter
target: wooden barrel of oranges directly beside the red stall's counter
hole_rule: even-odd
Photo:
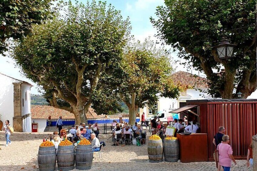
[[[166,162],[178,162],[179,140],[164,140],[164,159]]]

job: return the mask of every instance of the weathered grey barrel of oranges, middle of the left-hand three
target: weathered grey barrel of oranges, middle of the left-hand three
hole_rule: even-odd
[[[57,164],[58,170],[72,170],[75,163],[75,149],[73,144],[69,146],[58,146]]]

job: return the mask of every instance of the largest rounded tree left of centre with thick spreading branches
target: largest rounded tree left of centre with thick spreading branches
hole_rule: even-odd
[[[52,106],[61,108],[60,98],[70,105],[65,110],[81,117],[98,89],[112,87],[105,84],[121,61],[130,23],[105,2],[69,2],[62,10],[65,16],[33,25],[14,58]]]

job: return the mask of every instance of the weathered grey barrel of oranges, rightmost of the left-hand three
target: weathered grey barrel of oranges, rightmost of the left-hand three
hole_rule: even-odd
[[[79,170],[91,169],[93,162],[92,145],[79,145],[76,149],[76,168]]]

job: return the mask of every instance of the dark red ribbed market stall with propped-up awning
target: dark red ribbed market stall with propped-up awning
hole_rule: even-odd
[[[257,99],[187,100],[186,103],[170,113],[187,113],[189,121],[194,119],[199,123],[198,133],[207,134],[208,161],[214,161],[212,140],[219,126],[224,126],[230,137],[235,159],[246,159],[252,136],[257,133]]]

